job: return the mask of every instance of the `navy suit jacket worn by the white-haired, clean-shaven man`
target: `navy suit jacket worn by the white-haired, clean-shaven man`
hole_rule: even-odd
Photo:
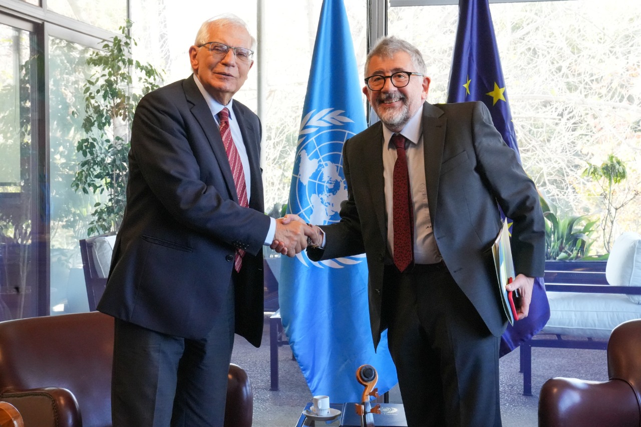
[[[249,156],[249,208],[238,205],[218,126],[194,77],[144,96],[133,119],[127,206],[98,310],[145,328],[198,339],[212,328],[231,281],[236,332],[260,346],[263,209],[261,124],[233,101]]]

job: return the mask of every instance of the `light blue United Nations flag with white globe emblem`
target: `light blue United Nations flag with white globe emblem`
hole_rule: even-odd
[[[314,45],[292,173],[288,213],[313,224],[340,221],[347,199],[342,169],[345,140],[366,127],[349,22],[342,0],[324,0]],[[365,255],[312,262],[284,257],[279,281],[283,328],[313,395],[333,402],[361,400],[356,369],[370,364],[378,388],[397,383],[387,349],[370,331]]]

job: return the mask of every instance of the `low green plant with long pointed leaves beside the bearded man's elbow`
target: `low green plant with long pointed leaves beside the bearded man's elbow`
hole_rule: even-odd
[[[539,194],[543,216],[545,217],[545,259],[578,260],[585,258],[594,242],[595,221],[587,215],[560,217],[556,206]]]

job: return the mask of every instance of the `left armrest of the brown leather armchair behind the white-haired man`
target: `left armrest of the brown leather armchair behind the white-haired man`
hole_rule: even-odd
[[[22,415],[24,425],[71,427],[81,425],[76,397],[67,389],[42,387],[29,390],[5,390],[0,399],[11,403]]]

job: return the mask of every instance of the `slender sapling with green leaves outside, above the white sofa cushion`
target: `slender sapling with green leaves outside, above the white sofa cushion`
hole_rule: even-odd
[[[583,176],[592,178],[601,187],[601,197],[605,207],[605,215],[601,218],[601,230],[603,230],[603,246],[606,251],[610,251],[612,245],[612,234],[614,224],[617,220],[617,213],[624,206],[628,205],[639,191],[630,189],[622,194],[617,192],[617,185],[628,178],[626,164],[615,155],[608,156],[608,160],[601,166],[595,166],[588,162],[588,167],[583,171]]]

